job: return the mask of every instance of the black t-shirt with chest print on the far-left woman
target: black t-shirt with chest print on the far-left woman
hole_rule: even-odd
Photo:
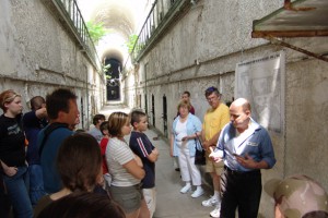
[[[0,116],[0,159],[8,167],[25,165],[25,136],[20,122],[21,117]]]

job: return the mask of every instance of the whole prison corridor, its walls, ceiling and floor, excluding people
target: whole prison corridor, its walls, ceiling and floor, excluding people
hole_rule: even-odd
[[[97,113],[142,109],[149,137],[162,135],[156,217],[209,217],[209,174],[207,195],[183,195],[168,155],[186,90],[201,121],[208,88],[249,100],[277,159],[262,184],[305,174],[328,190],[327,21],[328,0],[0,0],[0,93],[20,94],[25,113],[69,88],[83,130]],[[262,193],[258,217],[272,205]]]

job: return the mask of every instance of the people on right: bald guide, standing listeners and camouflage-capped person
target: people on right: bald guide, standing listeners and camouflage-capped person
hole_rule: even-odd
[[[201,141],[206,150],[204,169],[211,173],[214,191],[202,206],[215,206],[211,217],[233,218],[237,210],[239,218],[256,218],[262,190],[260,169],[270,169],[276,164],[271,138],[251,118],[247,99],[238,98],[229,108],[213,86],[206,89],[204,96],[210,108],[202,124],[194,108],[191,112],[189,92],[184,92],[173,122],[171,156],[177,157],[185,182],[180,193],[190,191],[192,182],[196,190],[191,197],[203,194],[199,168],[195,165],[197,143]],[[267,193],[276,201],[276,218],[328,218],[327,193],[313,179],[294,175],[274,184],[268,182],[266,186],[273,190]]]

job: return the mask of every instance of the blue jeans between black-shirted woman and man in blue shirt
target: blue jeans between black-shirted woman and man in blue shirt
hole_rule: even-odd
[[[32,206],[35,206],[36,203],[46,195],[44,189],[44,175],[43,168],[40,165],[30,165],[28,166],[30,174],[30,198]]]

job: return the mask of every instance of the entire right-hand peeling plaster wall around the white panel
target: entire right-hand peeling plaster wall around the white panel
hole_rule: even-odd
[[[154,95],[155,128],[162,134],[164,94],[167,97],[168,132],[184,90],[191,93],[196,116],[202,120],[209,107],[203,95],[207,87],[218,86],[223,101],[231,101],[236,63],[284,49],[250,37],[253,21],[282,4],[280,0],[199,0],[139,62],[137,85],[126,84],[127,96],[132,97],[137,90],[142,96],[144,108],[144,95],[148,95],[152,123],[151,95]],[[314,52],[328,51],[327,37],[288,41]],[[328,158],[325,157],[328,154],[328,64],[284,50],[285,132],[270,132],[278,161],[273,169],[262,170],[262,181],[304,173],[319,181],[328,191]],[[273,202],[265,192],[259,217],[273,217]]]

